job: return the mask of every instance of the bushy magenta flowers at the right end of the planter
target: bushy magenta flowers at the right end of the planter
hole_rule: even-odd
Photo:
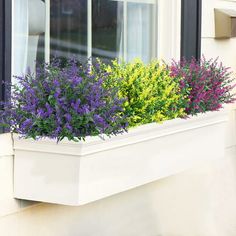
[[[218,59],[206,60],[203,57],[199,62],[194,58],[190,62],[184,59],[173,61],[170,73],[173,77],[182,78],[180,89],[188,95],[187,114],[217,111],[224,103],[235,101],[232,72],[218,63]]]

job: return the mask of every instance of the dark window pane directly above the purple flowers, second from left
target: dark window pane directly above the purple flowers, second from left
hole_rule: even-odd
[[[87,0],[50,1],[50,54],[87,59]]]

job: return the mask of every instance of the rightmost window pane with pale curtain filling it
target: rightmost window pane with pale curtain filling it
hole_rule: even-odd
[[[129,2],[127,6],[127,60],[149,62],[154,56],[154,4]]]

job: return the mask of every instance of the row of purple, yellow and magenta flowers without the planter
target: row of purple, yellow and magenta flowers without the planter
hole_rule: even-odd
[[[16,77],[1,126],[25,138],[79,141],[152,122],[216,111],[235,101],[229,68],[217,60],[80,64],[71,59]]]

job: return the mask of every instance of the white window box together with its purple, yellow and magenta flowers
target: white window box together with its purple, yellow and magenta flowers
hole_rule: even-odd
[[[224,156],[227,112],[184,120],[235,100],[217,61],[55,59],[16,79],[0,111],[15,198],[80,206]]]

